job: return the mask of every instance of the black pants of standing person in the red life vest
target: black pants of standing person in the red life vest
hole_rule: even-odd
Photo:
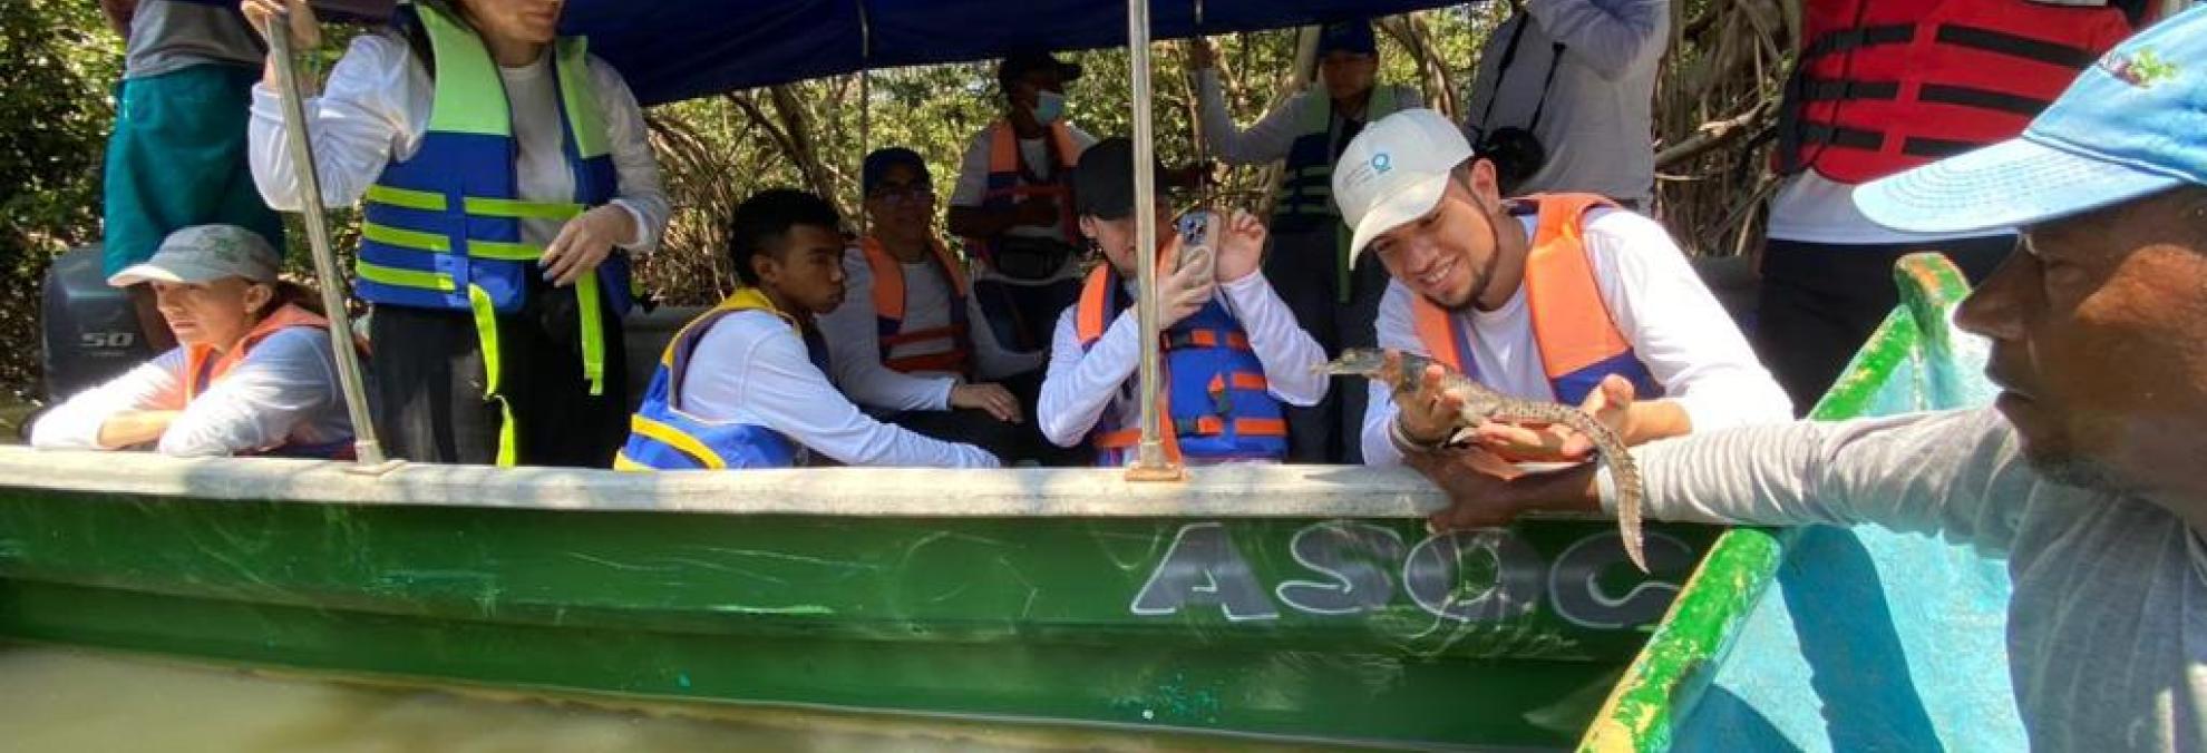
[[[1975,285],[2011,250],[2015,236],[1880,245],[1770,238],[1763,245],[1755,351],[1785,386],[1794,415],[1808,415],[1878,322],[1900,305],[1894,287],[1894,263],[1900,256],[1942,252]]]

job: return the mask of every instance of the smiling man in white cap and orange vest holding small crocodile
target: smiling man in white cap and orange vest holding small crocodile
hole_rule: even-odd
[[[1384,349],[1432,356],[1505,395],[1580,404],[1627,444],[1792,417],[1662,225],[1593,194],[1503,201],[1494,166],[1439,113],[1364,128],[1333,170],[1333,197],[1351,247],[1395,278],[1379,303]],[[1373,382],[1364,462],[1399,464],[1406,448],[1450,439],[1450,424],[1437,391],[1397,406]],[[1565,428],[1499,424],[1481,426],[1479,444],[1516,459],[1591,450]]]

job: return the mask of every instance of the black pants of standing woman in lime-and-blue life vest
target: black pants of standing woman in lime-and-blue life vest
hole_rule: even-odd
[[[532,280],[527,305],[499,316],[501,393],[514,415],[523,466],[609,468],[629,433],[629,378],[620,318],[605,327],[605,391],[583,378],[574,287]],[[369,318],[375,428],[393,457],[494,464],[505,417],[483,397],[483,351],[468,311],[377,305]]]

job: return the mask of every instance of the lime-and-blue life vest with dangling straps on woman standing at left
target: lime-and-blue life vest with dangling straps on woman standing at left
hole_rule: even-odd
[[[567,221],[614,199],[616,172],[605,113],[589,86],[583,38],[552,44],[561,150],[574,172],[572,201],[525,201],[514,172],[512,108],[483,40],[435,4],[402,4],[395,22],[417,24],[430,42],[435,82],[428,128],[408,159],[393,159],[362,201],[353,289],[375,305],[472,311],[483,351],[483,395],[501,404],[499,466],[516,459],[514,415],[501,397],[497,314],[514,314],[541,276],[541,245],[521,241],[523,219]],[[629,311],[629,263],[609,256],[576,280],[583,375],[605,393],[600,296]]]

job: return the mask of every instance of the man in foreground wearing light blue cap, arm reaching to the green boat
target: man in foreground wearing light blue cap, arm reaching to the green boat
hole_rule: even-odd
[[[1880,523],[2004,554],[2024,727],[2050,751],[2207,746],[2207,11],[2117,46],[2022,137],[1854,192],[1909,232],[2019,227],[1955,322],[1993,409],[1642,446],[1657,519]],[[1602,510],[1591,468],[1503,481],[1410,457],[1439,528]]]

